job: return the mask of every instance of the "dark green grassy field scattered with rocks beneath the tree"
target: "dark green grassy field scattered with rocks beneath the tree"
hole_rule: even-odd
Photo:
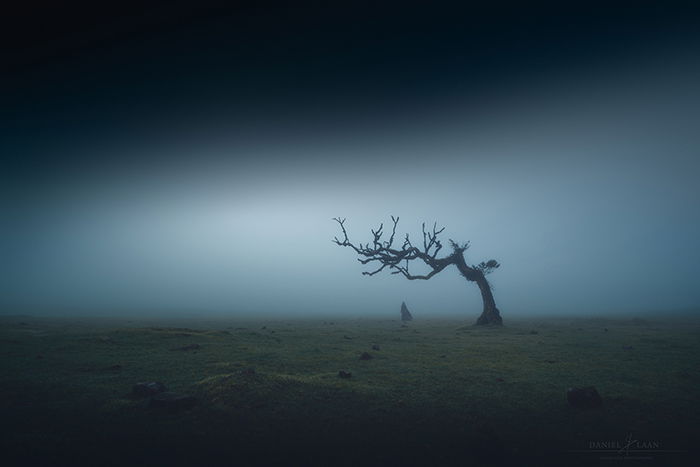
[[[700,322],[659,318],[513,319],[501,329],[456,320],[1,318],[4,458],[695,465]],[[199,348],[175,350],[191,344]],[[130,396],[141,381],[198,403],[149,408]],[[568,387],[590,385],[602,408],[568,406]],[[646,451],[592,447],[624,446],[628,435]]]

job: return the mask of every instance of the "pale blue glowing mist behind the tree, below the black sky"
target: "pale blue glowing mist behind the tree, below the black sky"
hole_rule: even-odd
[[[500,261],[491,282],[506,316],[694,307],[698,141],[685,125],[700,100],[654,71],[632,95],[618,97],[624,79],[575,81],[573,97],[455,105],[332,138],[311,127],[280,141],[263,126],[247,144],[66,145],[85,163],[6,188],[4,312],[386,315],[402,300],[425,315],[478,311],[456,270],[366,277],[331,243],[332,217],[365,242],[390,215],[401,236],[438,222],[445,240],[471,241],[468,261]],[[654,102],[635,104],[648,92]],[[103,153],[144,161],[91,160]]]

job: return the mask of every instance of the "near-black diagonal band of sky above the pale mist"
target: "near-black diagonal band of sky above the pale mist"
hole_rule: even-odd
[[[465,100],[476,113],[519,88],[692,55],[700,36],[694,2],[145,3],[3,14],[3,127],[32,151],[17,168],[85,164],[45,155],[76,140],[381,131]]]

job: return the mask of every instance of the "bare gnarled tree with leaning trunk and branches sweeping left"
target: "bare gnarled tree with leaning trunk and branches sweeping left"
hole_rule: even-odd
[[[345,230],[345,219],[334,217],[333,220],[340,224],[340,228],[343,231],[343,239],[339,240],[338,237],[335,237],[333,240],[334,243],[340,246],[349,246],[355,250],[360,256],[357,259],[360,263],[368,264],[376,262],[378,265],[377,269],[365,271],[362,274],[373,276],[384,268],[389,267],[389,269],[392,270],[392,274],[403,274],[406,279],[428,280],[447,266],[454,264],[465,279],[470,282],[476,282],[476,285],[479,286],[479,290],[481,291],[481,298],[484,301],[484,311],[481,313],[481,316],[479,316],[476,324],[503,324],[501,314],[498,308],[496,308],[496,302],[493,299],[493,293],[491,293],[491,285],[486,280],[486,275],[498,268],[500,264],[498,264],[496,260],[490,259],[477,265],[467,265],[464,259],[464,252],[469,248],[469,242],[460,245],[450,239],[452,254],[438,258],[437,254],[442,249],[442,243],[437,237],[445,228],[443,227],[438,230],[437,223],[435,223],[433,225],[433,231],[429,232],[425,230],[425,223],[423,223],[422,249],[411,243],[408,234],[406,234],[401,248],[395,248],[393,246],[394,237],[396,236],[396,225],[399,223],[399,218],[391,216],[391,221],[394,223],[394,226],[391,229],[391,236],[388,241],[382,241],[381,239],[384,233],[384,224],[380,224],[377,230],[370,229],[374,236],[372,243],[368,242],[364,245],[359,243],[355,245],[348,239],[348,233]],[[431,271],[424,275],[411,274],[408,271],[408,266],[413,260],[421,260]]]

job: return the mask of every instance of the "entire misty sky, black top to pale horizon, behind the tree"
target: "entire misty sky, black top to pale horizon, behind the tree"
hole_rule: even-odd
[[[700,303],[694,2],[0,21],[6,310],[478,308],[456,274],[370,280],[328,241],[332,216],[364,236],[390,214],[499,259],[504,314]]]

